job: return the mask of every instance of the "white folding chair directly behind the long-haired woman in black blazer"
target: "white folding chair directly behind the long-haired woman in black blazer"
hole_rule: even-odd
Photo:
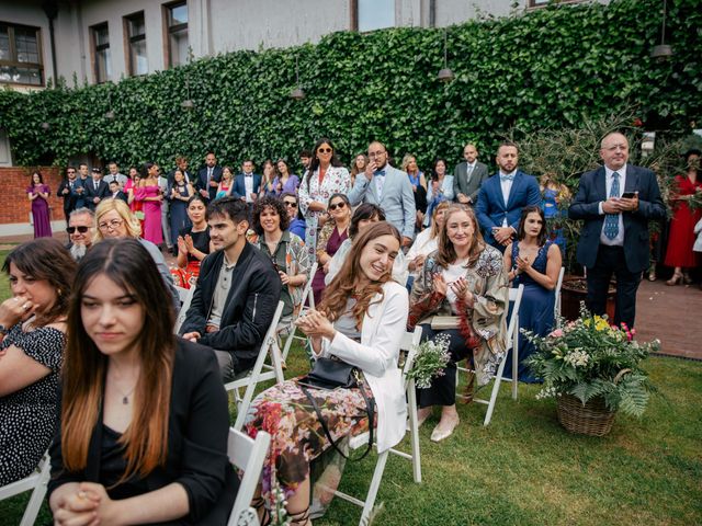
[[[229,428],[229,441],[227,443],[227,456],[229,461],[244,471],[239,492],[231,506],[228,526],[258,526],[258,513],[251,506],[251,501],[256,493],[256,488],[261,478],[265,454],[271,444],[271,435],[264,431],[259,431],[256,441],[246,433]]]

